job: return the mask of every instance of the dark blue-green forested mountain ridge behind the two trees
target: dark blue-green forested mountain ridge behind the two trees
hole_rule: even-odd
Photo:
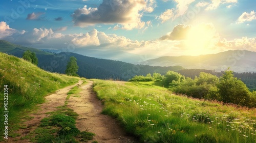
[[[65,73],[70,56],[75,56],[79,66],[78,75],[86,78],[128,80],[135,75],[153,74],[154,72],[165,74],[169,70],[178,71],[184,69],[181,66],[153,67],[134,65],[120,61],[92,58],[71,52],[52,53],[0,40],[0,51],[18,56],[19,58],[28,49],[36,53],[38,67],[57,73]]]

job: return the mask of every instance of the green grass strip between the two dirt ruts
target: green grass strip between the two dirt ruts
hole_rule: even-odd
[[[82,131],[80,132],[75,121],[78,114],[73,109],[67,107],[68,99],[79,93],[81,89],[77,86],[72,88],[66,98],[63,106],[57,107],[58,110],[49,112],[50,117],[42,119],[39,127],[32,131],[24,138],[31,137],[32,142],[87,142],[93,139],[94,133]]]

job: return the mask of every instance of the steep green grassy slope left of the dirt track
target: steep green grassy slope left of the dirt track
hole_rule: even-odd
[[[7,87],[10,133],[8,136],[15,136],[20,119],[25,118],[26,113],[34,109],[34,105],[44,102],[46,95],[79,80],[77,77],[46,72],[23,59],[2,52],[0,61],[0,111],[3,114],[6,100],[4,88]],[[4,124],[1,124],[0,128],[4,129]]]

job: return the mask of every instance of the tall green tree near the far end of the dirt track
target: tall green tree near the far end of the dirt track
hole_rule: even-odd
[[[74,56],[71,56],[67,65],[66,74],[71,76],[78,76],[78,66],[76,63],[76,58]]]

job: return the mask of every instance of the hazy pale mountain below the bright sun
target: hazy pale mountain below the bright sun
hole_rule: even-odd
[[[224,71],[228,67],[235,72],[256,72],[256,52],[229,50],[217,54],[199,56],[162,56],[140,64],[150,66],[182,66],[186,69]]]

